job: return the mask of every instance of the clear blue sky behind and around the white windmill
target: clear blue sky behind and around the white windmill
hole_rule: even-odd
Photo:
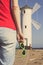
[[[33,47],[43,47],[43,0],[27,0],[27,5],[33,7],[36,2],[41,5],[41,8],[32,15],[32,18],[41,24],[41,28],[36,30],[32,26],[32,45]],[[19,6],[24,5],[26,5],[26,0],[19,0]]]

